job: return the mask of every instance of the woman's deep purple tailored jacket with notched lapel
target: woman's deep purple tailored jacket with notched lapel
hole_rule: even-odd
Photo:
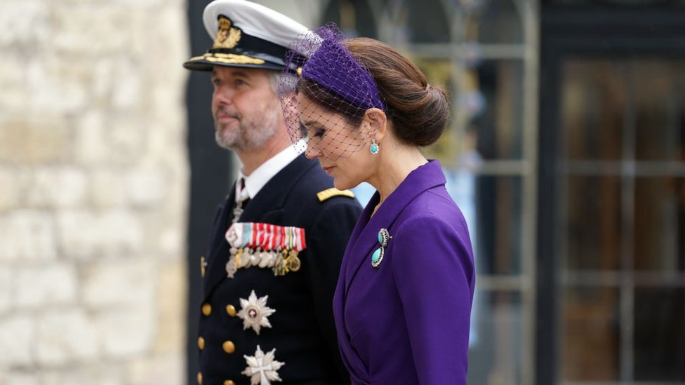
[[[466,222],[439,161],[413,170],[362,212],[333,298],[342,361],[352,384],[466,384],[475,282]],[[378,231],[390,241],[378,267]]]

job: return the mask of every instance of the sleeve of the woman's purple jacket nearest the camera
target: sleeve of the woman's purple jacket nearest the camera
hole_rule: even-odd
[[[462,224],[455,229],[425,216],[391,234],[392,270],[422,385],[466,384],[474,269]]]

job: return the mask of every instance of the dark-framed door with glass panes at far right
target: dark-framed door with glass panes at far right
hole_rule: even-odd
[[[685,10],[549,3],[536,382],[685,381]]]

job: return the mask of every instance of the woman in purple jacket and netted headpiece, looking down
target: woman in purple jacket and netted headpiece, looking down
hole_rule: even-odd
[[[446,93],[396,50],[331,25],[299,41],[288,66],[298,77],[281,78],[281,104],[295,144],[336,188],[377,190],[333,300],[352,383],[465,384],[472,249],[439,161],[420,151],[446,128]]]

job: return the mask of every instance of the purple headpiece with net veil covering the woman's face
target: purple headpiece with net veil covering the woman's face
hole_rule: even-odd
[[[361,126],[371,108],[385,103],[370,72],[342,45],[345,35],[335,24],[295,39],[286,54],[279,97],[288,133],[308,156],[349,157],[372,144]]]

